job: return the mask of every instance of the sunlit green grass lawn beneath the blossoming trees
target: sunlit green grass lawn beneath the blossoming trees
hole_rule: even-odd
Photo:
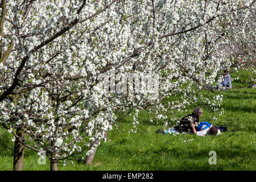
[[[207,110],[200,118],[200,121],[227,127],[226,132],[206,137],[156,134],[163,125],[153,125],[148,121],[147,113],[142,111],[137,133],[128,133],[133,125],[131,117],[126,117],[119,129],[109,131],[108,141],[101,142],[92,164],[86,166],[81,160],[69,161],[64,166],[60,162],[59,170],[255,170],[256,89],[247,88],[252,84],[247,80],[248,74],[246,71],[232,73],[232,77],[240,76],[241,80],[232,82],[233,90],[221,91],[224,114],[215,115],[217,121]],[[187,110],[191,112],[198,104],[187,107]],[[0,133],[3,131],[1,129]],[[0,136],[0,170],[13,169],[12,137],[7,132]],[[189,139],[192,141],[184,142]],[[216,164],[208,162],[210,151],[216,152]],[[49,170],[49,160],[39,165],[38,159],[37,152],[26,148],[24,170]]]

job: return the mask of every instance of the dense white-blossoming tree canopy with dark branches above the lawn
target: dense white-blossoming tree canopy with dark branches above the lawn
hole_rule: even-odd
[[[255,0],[2,0],[0,122],[14,135],[24,127],[27,147],[68,158],[77,142],[104,139],[118,109],[147,109],[166,125],[167,113],[198,99],[216,111],[222,96],[208,103],[199,92],[251,56],[220,47],[254,48],[254,16]],[[114,92],[133,87],[131,75],[147,85]],[[183,101],[162,103],[177,92]]]

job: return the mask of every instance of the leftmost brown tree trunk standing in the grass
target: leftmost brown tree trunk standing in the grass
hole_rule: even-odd
[[[20,138],[26,138],[26,133],[24,133],[22,128],[17,128],[16,134]],[[22,142],[24,142],[24,140],[22,140]],[[24,145],[22,142],[20,142],[18,138],[15,139],[14,162],[13,162],[13,170],[14,171],[23,171]]]

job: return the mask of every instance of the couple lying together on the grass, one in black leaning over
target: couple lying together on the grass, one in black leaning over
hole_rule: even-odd
[[[199,122],[199,118],[203,114],[203,109],[201,107],[196,107],[193,113],[186,115],[181,118],[179,126],[174,127],[174,129],[158,130],[158,133],[162,134],[175,134],[175,133],[189,133],[199,136],[205,135],[218,135],[220,131],[225,131],[225,127],[213,126],[208,122]]]

